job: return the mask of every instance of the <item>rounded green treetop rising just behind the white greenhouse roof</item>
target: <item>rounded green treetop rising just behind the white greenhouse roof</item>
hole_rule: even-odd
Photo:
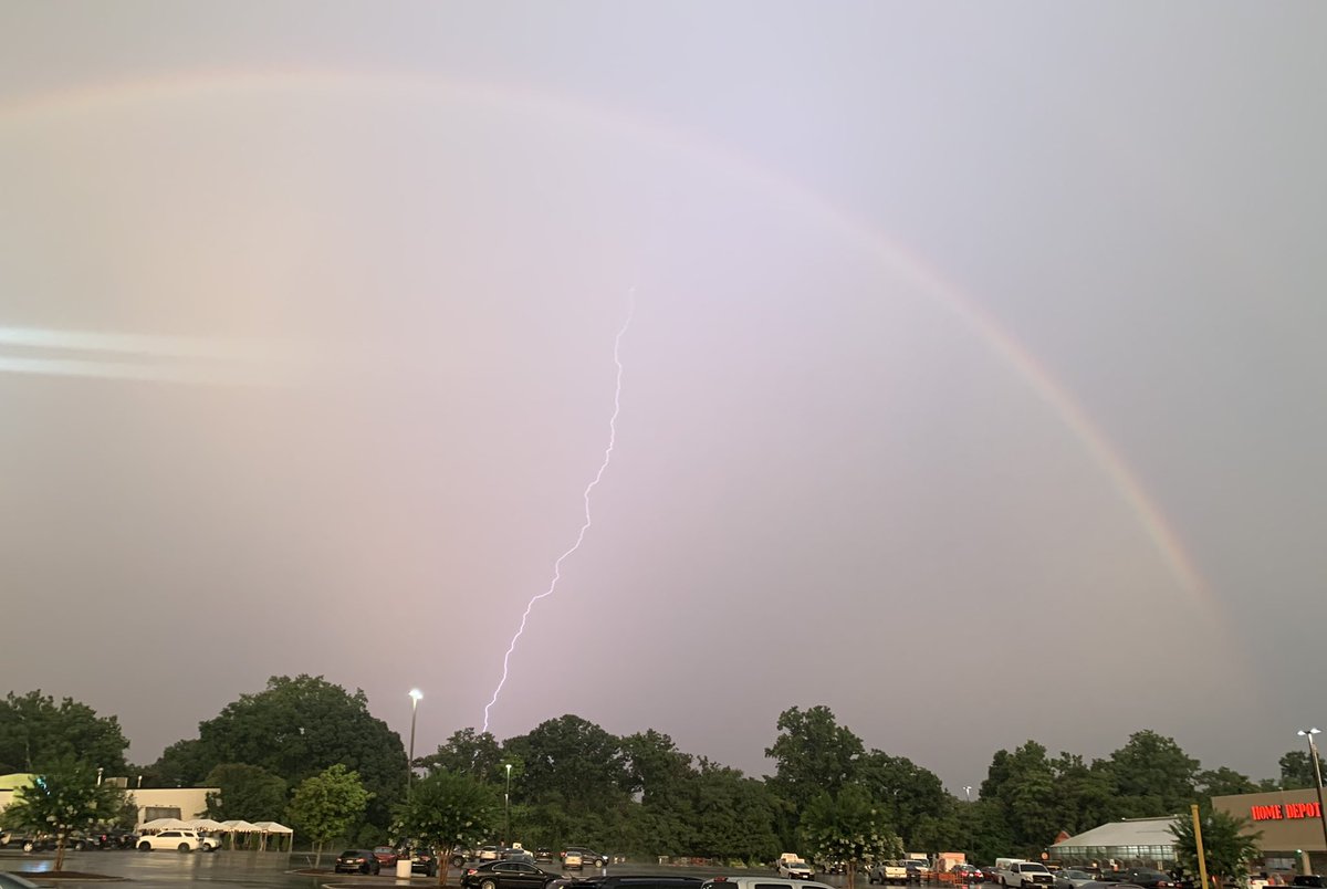
[[[1111,754],[1109,762],[1125,817],[1186,812],[1194,801],[1198,760],[1185,754],[1173,738],[1136,731],[1124,747]]]

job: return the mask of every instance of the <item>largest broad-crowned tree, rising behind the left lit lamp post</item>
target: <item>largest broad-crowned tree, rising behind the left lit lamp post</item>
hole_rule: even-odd
[[[401,736],[369,713],[364,691],[346,693],[322,677],[272,677],[267,689],[240,695],[198,727],[192,768],[202,778],[223,763],[267,770],[297,786],[333,764],[354,770],[370,795],[368,820],[381,829],[405,795],[407,763]]]

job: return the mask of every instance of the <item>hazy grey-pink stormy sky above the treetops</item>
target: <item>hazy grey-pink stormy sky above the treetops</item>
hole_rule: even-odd
[[[601,471],[499,739],[763,775],[825,705],[955,792],[1144,728],[1274,776],[1327,723],[1324,29],[9,4],[5,682],[138,763],[271,675],[403,736],[418,687],[427,752]]]

